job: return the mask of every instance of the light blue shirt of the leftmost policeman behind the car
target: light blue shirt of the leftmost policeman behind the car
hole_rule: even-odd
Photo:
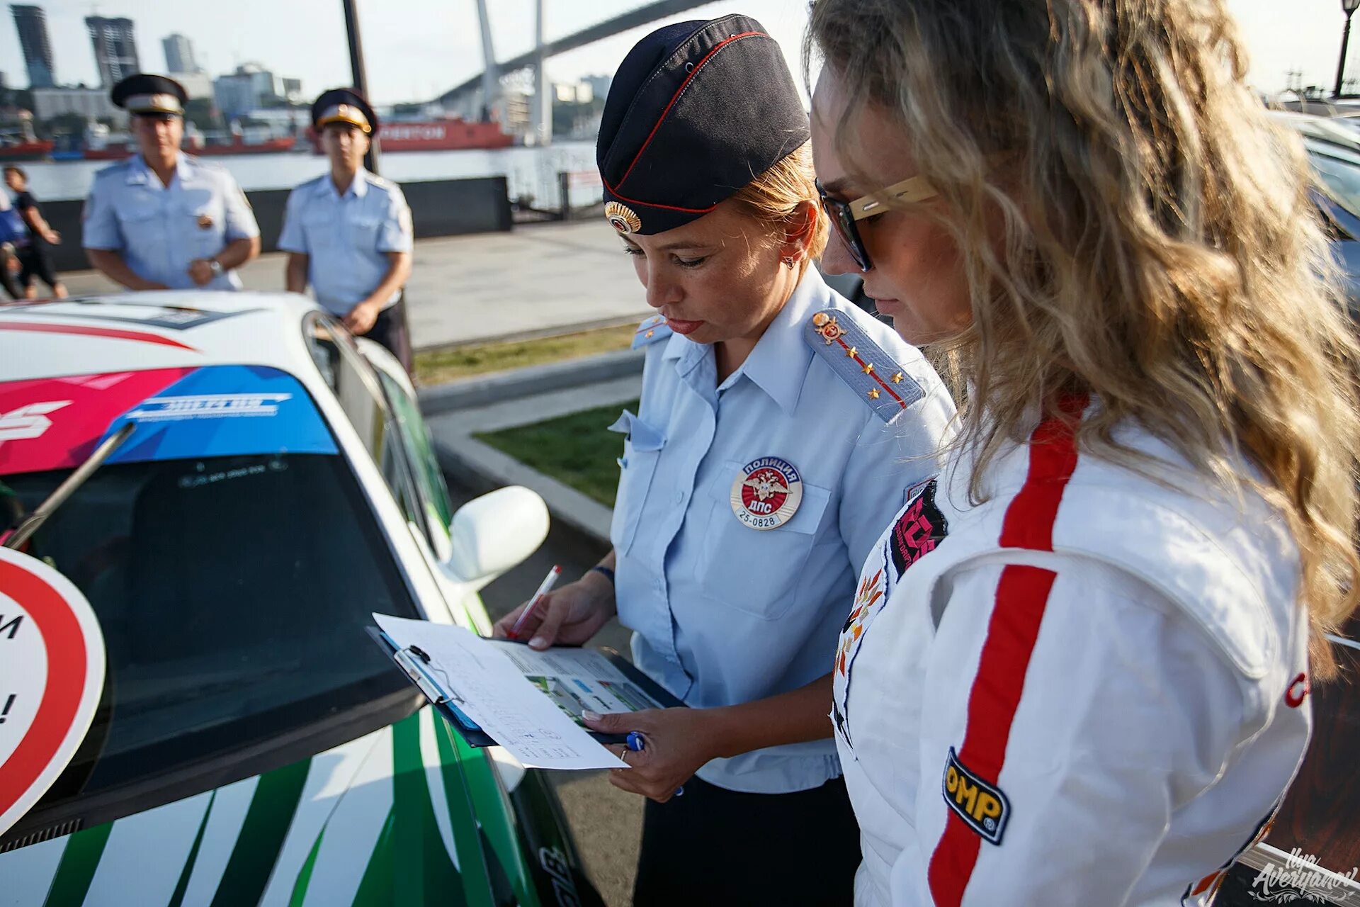
[[[233,239],[258,237],[241,186],[215,163],[181,154],[170,185],[136,155],[94,177],[80,245],[118,252],[135,275],[171,290],[199,290],[189,262],[212,258]],[[227,271],[203,290],[239,290]]]

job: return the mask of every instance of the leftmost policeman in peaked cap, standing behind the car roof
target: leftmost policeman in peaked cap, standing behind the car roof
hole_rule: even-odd
[[[235,269],[260,254],[260,227],[222,167],[180,151],[185,90],[139,73],[113,87],[139,154],[95,174],[82,245],[129,290],[239,290]]]

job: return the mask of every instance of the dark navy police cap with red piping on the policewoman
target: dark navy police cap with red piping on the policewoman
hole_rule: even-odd
[[[666,26],[628,52],[600,121],[605,216],[651,235],[713,211],[809,137],[789,64],[749,16]]]

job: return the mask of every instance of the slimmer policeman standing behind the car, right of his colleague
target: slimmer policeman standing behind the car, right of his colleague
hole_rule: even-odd
[[[288,196],[279,235],[290,253],[288,290],[310,283],[352,333],[382,344],[409,371],[401,287],[411,276],[411,209],[394,182],[363,167],[378,117],[358,92],[332,88],[311,105],[311,126],[330,173]]]

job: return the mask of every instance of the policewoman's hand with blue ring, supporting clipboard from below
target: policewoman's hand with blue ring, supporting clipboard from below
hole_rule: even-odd
[[[694,772],[706,761],[721,756],[718,747],[721,708],[643,708],[642,711],[582,715],[586,728],[608,734],[635,730],[646,748],[631,751],[622,744],[609,745],[627,768],[609,772],[609,783],[620,790],[650,797],[664,804],[676,795]]]

